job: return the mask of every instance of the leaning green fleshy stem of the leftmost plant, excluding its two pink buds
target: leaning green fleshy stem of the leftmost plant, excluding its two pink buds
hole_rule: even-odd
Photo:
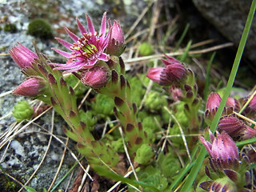
[[[74,90],[66,85],[62,74],[58,70],[51,69],[46,58],[40,54],[38,55],[38,68],[44,71],[40,75],[47,82],[44,95],[39,96],[38,99],[52,105],[54,110],[70,126],[70,129],[64,128],[64,132],[69,138],[78,142],[78,151],[86,156],[90,166],[104,164],[114,167],[119,161],[118,154],[102,141],[94,139],[86,124],[81,121]]]

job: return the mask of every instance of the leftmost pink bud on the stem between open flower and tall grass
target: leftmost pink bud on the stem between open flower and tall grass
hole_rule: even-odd
[[[171,82],[166,78],[164,67],[150,68],[146,74],[146,77],[150,78],[153,82],[156,82],[161,86],[171,85]]]

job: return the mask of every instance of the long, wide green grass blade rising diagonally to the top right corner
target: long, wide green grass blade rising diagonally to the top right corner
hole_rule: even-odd
[[[232,70],[230,72],[230,78],[229,78],[229,80],[227,82],[227,85],[226,85],[225,94],[223,95],[222,102],[220,103],[220,105],[218,107],[218,110],[217,110],[217,113],[215,114],[214,121],[212,122],[212,124],[210,126],[210,130],[212,132],[214,132],[216,130],[216,127],[218,125],[218,120],[222,115],[222,110],[224,109],[224,106],[226,104],[226,100],[227,100],[228,96],[230,95],[230,90],[231,90],[231,88],[234,84],[234,78],[235,78],[235,76],[238,72],[238,66],[239,66],[240,60],[242,58],[243,50],[244,50],[245,45],[246,45],[246,40],[247,40],[249,31],[250,31],[250,25],[251,25],[251,22],[254,18],[255,8],[256,8],[256,0],[253,0],[252,4],[250,6],[250,12],[248,14],[248,18],[246,20],[246,26],[245,26],[245,28],[242,32],[242,38],[241,38],[239,46],[238,46],[238,52],[236,54],[236,57],[234,58],[234,64],[233,64]],[[200,153],[198,155],[198,158],[195,162],[195,165],[193,166],[193,168],[192,168],[190,174],[188,175],[188,177],[186,178],[186,182],[182,186],[182,190],[181,190],[182,192],[190,190],[190,188],[191,188],[191,186],[194,182],[194,179],[196,178],[196,176],[198,174],[198,171],[200,170],[200,168],[202,166],[202,162],[203,162],[205,156],[206,156],[206,149],[201,148]]]

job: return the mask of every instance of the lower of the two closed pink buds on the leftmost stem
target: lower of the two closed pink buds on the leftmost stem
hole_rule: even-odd
[[[40,94],[43,86],[42,78],[26,78],[25,82],[22,82],[22,84],[13,90],[13,94],[35,97]]]

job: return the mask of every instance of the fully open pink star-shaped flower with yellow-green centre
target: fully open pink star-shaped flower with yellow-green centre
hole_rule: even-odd
[[[61,38],[56,38],[58,42],[69,49],[71,53],[54,48],[53,50],[58,52],[58,54],[62,54],[72,62],[66,64],[52,63],[52,65],[56,66],[55,70],[66,70],[65,73],[70,73],[81,69],[90,69],[98,60],[107,62],[110,59],[110,55],[104,53],[110,38],[110,33],[106,34],[106,13],[103,14],[99,33],[94,30],[94,25],[87,14],[86,20],[88,31],[77,18],[78,28],[82,34],[81,38],[78,38],[77,35],[73,34],[65,27],[66,33],[69,34],[70,38],[74,41],[73,44]]]

